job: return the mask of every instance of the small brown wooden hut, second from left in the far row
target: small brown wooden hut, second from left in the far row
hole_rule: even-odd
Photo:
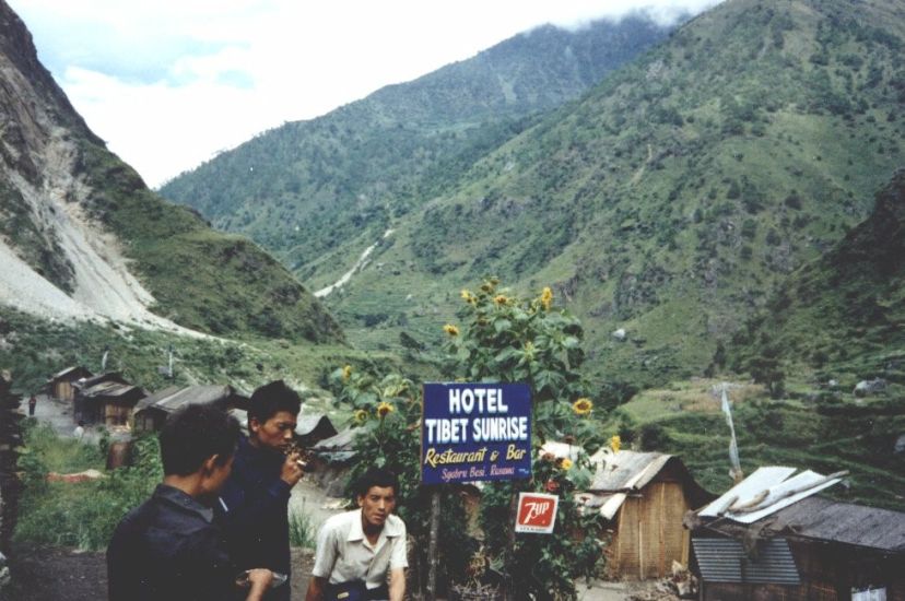
[[[126,426],[132,410],[148,392],[111,372],[73,382],[75,421],[106,426]]]

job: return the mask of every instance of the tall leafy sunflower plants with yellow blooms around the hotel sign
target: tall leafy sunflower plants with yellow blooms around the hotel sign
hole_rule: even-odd
[[[462,326],[447,323],[445,370],[459,381],[526,382],[532,390],[532,455],[548,439],[572,440],[581,448],[599,445],[600,438],[591,417],[593,403],[585,394],[587,384],[578,369],[584,361],[580,349],[580,322],[565,310],[553,307],[548,287],[536,298],[518,298],[498,288],[496,279],[485,280],[477,293],[462,291],[465,302],[459,313]],[[420,481],[421,398],[411,380],[398,375],[377,378],[360,374],[351,366],[332,375],[338,400],[355,411],[361,424],[356,437],[356,464],[353,475],[371,464],[385,466],[400,474],[406,504],[403,518],[413,522],[410,530],[426,547],[430,493]],[[575,599],[579,576],[595,571],[600,557],[596,518],[581,517],[572,493],[587,486],[591,472],[586,455],[573,459],[544,457],[533,462],[533,478],[528,483],[487,483],[482,492],[480,522],[483,546],[492,557],[505,564],[517,578],[515,598],[529,592]],[[519,491],[546,491],[560,495],[559,537],[520,537],[515,549],[507,545],[512,526],[509,505]],[[474,550],[465,537],[463,510],[454,495],[442,495],[442,538],[450,580],[465,581],[461,571]],[[581,532],[583,535],[578,535]],[[452,538],[448,538],[452,537]],[[455,542],[454,542],[455,541]]]

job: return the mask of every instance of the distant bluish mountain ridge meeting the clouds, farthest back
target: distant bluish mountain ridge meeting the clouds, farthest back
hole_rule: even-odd
[[[161,193],[251,236],[306,282],[327,285],[350,267],[350,252],[451,187],[533,114],[577,97],[666,33],[642,16],[577,32],[540,27],[262,133]]]

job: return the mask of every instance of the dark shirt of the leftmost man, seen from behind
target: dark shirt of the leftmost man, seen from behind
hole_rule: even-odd
[[[160,484],[117,526],[107,547],[110,601],[221,601],[234,598],[237,570],[213,511]]]

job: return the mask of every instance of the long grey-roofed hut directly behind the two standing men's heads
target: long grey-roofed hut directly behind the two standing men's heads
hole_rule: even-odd
[[[248,397],[228,385],[197,385],[185,388],[169,387],[156,392],[136,405],[137,432],[158,432],[166,419],[183,405],[215,404],[223,410],[245,410]]]

